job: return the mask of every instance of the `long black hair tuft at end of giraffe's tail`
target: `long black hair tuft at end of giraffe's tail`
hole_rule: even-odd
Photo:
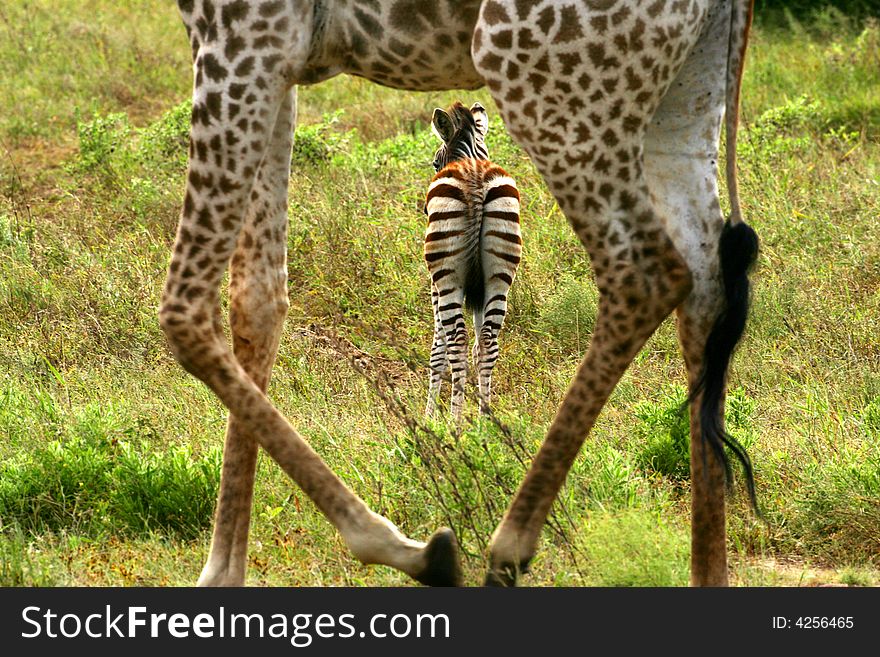
[[[708,443],[715,455],[724,464],[728,486],[732,482],[730,462],[725,446],[733,452],[743,468],[749,500],[755,513],[761,517],[755,495],[755,479],[752,462],[745,448],[727,433],[722,423],[721,404],[727,382],[727,368],[730,358],[742,337],[749,312],[748,273],[758,255],[758,236],[747,224],[731,224],[728,220],[721,231],[718,247],[721,260],[721,276],[724,284],[724,297],[727,305],[715,320],[715,325],[706,340],[703,354],[703,371],[691,397],[703,393],[700,405],[700,428],[702,440]],[[704,452],[705,454],[705,452]]]

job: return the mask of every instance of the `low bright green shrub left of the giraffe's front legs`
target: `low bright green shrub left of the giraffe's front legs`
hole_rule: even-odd
[[[0,466],[4,526],[35,533],[158,531],[188,539],[210,525],[219,449],[201,459],[182,447],[152,452],[86,421],[73,433]]]

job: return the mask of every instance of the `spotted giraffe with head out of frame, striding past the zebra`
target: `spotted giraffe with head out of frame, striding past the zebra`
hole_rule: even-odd
[[[451,530],[426,542],[371,511],[266,397],[288,308],[297,85],[340,73],[408,90],[488,86],[590,255],[590,347],[492,535],[487,584],[514,585],[567,471],[635,354],[673,310],[691,390],[691,583],[727,583],[721,401],[754,233],[735,134],[750,0],[178,0],[193,56],[189,168],[159,308],[172,353],[229,409],[199,585],[242,585],[262,447],[355,558],[462,581]],[[718,200],[726,115],[732,211]],[[720,244],[720,248],[719,248]],[[229,267],[230,349],[219,288]],[[731,444],[735,444],[732,443]],[[747,464],[747,461],[746,461]]]

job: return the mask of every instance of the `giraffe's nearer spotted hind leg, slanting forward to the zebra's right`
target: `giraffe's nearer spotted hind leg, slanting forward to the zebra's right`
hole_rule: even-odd
[[[525,569],[614,386],[690,293],[687,262],[648,186],[643,144],[707,7],[663,13],[657,3],[588,3],[541,6],[539,17],[538,5],[498,0],[481,9],[477,70],[589,252],[600,292],[587,354],[492,536],[489,584],[514,584]],[[660,36],[662,48],[654,45]],[[712,73],[723,79],[725,69]]]

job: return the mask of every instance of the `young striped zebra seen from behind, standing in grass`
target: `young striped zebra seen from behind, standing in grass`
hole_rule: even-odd
[[[434,338],[428,402],[433,416],[440,384],[452,370],[451,413],[460,422],[467,378],[464,310],[473,314],[472,359],[478,372],[480,412],[489,410],[498,333],[507,314],[507,293],[522,257],[516,182],[489,161],[486,110],[456,102],[437,108],[432,131],[443,144],[434,155],[436,175],[428,187],[425,262],[431,275]]]

